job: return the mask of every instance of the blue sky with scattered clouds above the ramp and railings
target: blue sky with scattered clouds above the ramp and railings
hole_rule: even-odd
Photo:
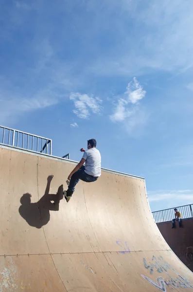
[[[95,138],[103,167],[145,177],[152,211],[193,203],[192,12],[192,0],[0,0],[0,124],[73,160]]]

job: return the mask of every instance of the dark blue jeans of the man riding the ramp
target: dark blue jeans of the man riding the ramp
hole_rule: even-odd
[[[70,179],[70,184],[67,190],[67,196],[71,196],[74,192],[75,185],[79,182],[79,180],[92,183],[95,182],[98,177],[93,177],[85,172],[85,166],[83,165],[79,170],[77,170],[74,174],[72,174]]]

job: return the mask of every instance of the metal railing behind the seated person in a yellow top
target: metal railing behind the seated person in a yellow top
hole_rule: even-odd
[[[177,208],[182,215],[182,219],[192,218],[193,217],[193,204],[184,205]],[[174,208],[164,209],[156,212],[152,212],[154,220],[156,223],[168,222],[175,218]]]

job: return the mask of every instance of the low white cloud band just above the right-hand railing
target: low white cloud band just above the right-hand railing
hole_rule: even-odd
[[[148,201],[174,201],[174,204],[178,204],[179,201],[183,201],[184,204],[193,202],[193,190],[158,190],[148,192]]]

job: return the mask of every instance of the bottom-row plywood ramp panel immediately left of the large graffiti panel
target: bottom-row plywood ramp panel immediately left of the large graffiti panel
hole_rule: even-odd
[[[54,255],[53,260],[68,291],[123,291],[122,283],[101,253]]]

